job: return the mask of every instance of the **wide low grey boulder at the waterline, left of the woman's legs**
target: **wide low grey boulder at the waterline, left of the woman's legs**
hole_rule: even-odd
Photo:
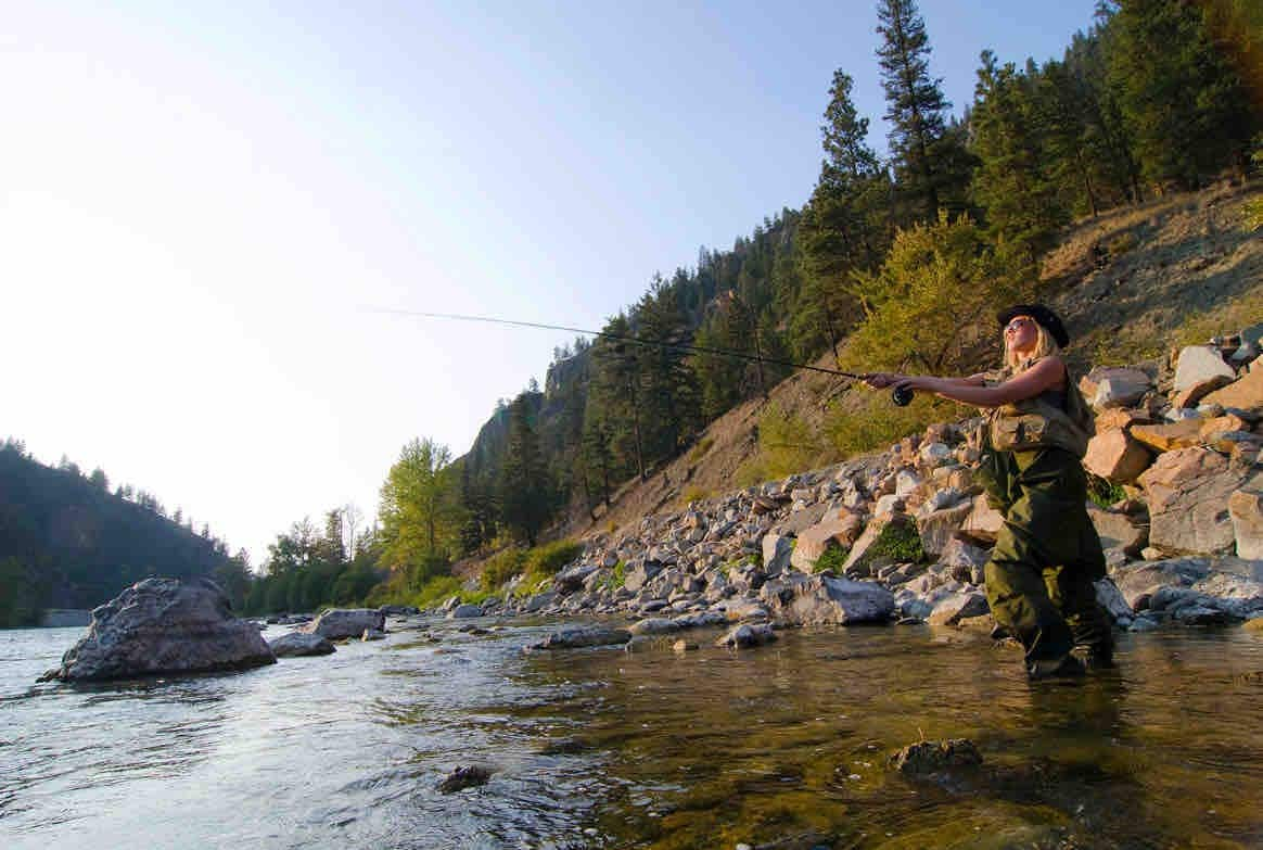
[[[894,613],[894,595],[882,585],[825,573],[789,573],[759,595],[772,619],[786,625],[884,623]]]

